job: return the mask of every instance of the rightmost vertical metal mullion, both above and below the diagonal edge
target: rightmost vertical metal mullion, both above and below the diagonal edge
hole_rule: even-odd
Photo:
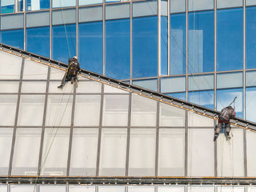
[[[244,102],[244,119],[246,118],[246,73],[245,73],[245,69],[246,69],[246,1],[244,0],[244,78],[243,78],[243,93],[244,93],[244,97],[243,97],[243,102]],[[247,149],[246,149],[246,129],[244,129],[244,177],[247,177]]]

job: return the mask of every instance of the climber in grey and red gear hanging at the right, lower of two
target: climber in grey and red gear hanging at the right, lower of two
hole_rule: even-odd
[[[219,121],[218,126],[216,128],[215,134],[214,134],[214,142],[216,141],[219,131],[222,129],[222,126],[225,125],[226,133],[227,133],[227,139],[231,139],[230,137],[230,119],[235,118],[236,112],[233,109],[233,107],[228,106],[222,109],[222,111],[219,114]]]

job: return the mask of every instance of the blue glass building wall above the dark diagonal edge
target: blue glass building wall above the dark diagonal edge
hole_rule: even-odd
[[[212,109],[237,96],[256,120],[255,1],[17,2],[1,1],[7,45]]]

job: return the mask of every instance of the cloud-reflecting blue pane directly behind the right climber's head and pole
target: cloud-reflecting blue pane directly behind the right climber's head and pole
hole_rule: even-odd
[[[227,107],[237,96],[235,102],[236,117],[243,118],[243,89],[223,89],[217,90],[217,110],[221,111],[224,107]],[[232,104],[233,107],[233,104]]]

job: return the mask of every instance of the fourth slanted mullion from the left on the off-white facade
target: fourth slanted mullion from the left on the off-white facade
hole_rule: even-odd
[[[103,100],[104,100],[104,85],[102,84],[102,95],[100,101],[100,115],[99,115],[99,135],[98,135],[98,146],[97,146],[97,164],[96,164],[96,176],[99,176],[99,155],[100,155],[100,145],[102,136],[102,116],[103,116]]]

